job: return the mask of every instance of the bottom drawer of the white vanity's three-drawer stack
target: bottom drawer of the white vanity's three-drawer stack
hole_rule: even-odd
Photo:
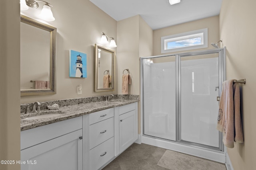
[[[89,154],[89,169],[98,170],[114,157],[114,137],[90,150]]]

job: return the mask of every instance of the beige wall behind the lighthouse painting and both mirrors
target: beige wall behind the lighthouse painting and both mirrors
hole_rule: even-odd
[[[55,21],[49,24],[57,28],[56,45],[56,88],[57,94],[21,96],[20,103],[42,102],[117,94],[110,92],[94,92],[94,44],[99,43],[102,32],[116,39],[117,21],[100,10],[89,0],[48,0],[52,7]],[[41,4],[41,3],[40,3]],[[35,14],[29,9],[30,16]],[[26,11],[25,11],[26,12]],[[116,41],[117,45],[118,42]],[[107,45],[104,45],[107,47]],[[69,50],[87,54],[87,78],[69,77]],[[116,51],[117,48],[113,48]],[[82,84],[82,95],[77,95],[77,86]]]

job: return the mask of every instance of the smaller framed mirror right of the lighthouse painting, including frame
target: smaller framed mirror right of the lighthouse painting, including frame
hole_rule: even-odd
[[[94,53],[94,91],[114,90],[115,51],[95,44]]]

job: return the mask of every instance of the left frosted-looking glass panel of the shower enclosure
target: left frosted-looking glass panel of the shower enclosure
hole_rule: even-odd
[[[143,59],[144,135],[176,141],[175,56]]]

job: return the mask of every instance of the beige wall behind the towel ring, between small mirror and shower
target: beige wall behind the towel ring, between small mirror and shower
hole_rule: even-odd
[[[133,16],[117,23],[117,76],[118,94],[122,94],[122,73],[128,68],[132,78],[129,94],[140,94],[139,57],[151,56],[153,53],[153,31],[139,16]],[[126,71],[125,71],[126,72]],[[140,102],[138,104],[138,133],[140,134]]]

